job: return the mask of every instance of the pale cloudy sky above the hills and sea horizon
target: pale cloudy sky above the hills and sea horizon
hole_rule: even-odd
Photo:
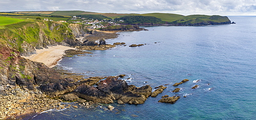
[[[256,0],[0,0],[1,12],[64,10],[256,16]]]

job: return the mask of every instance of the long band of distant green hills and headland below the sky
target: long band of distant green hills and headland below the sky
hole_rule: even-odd
[[[69,20],[72,16],[92,18],[92,19],[116,19],[123,20],[120,24],[136,25],[210,25],[210,24],[230,24],[231,21],[226,16],[219,15],[179,15],[169,13],[147,13],[147,14],[118,14],[118,13],[96,13],[85,11],[25,11],[25,12],[5,12],[2,16],[12,16],[15,18],[36,17],[49,18],[52,20]],[[62,17],[61,17],[62,16]],[[142,17],[144,16],[144,17]]]

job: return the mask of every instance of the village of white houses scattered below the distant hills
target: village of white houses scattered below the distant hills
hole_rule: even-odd
[[[44,20],[45,21],[53,21],[51,19],[49,20],[48,18],[45,18]],[[58,22],[67,22],[67,21],[59,20]],[[107,20],[107,19],[98,20],[98,19],[84,18],[84,17],[77,17],[77,16],[72,16],[72,18],[70,18],[70,20],[68,22],[88,25],[88,28],[90,28],[90,29],[104,28],[104,27],[108,26],[108,25],[103,25],[101,23],[109,23],[111,25],[119,25],[119,24],[116,23],[117,21],[115,21],[114,19],[112,19],[112,20]],[[123,22],[123,20],[119,20],[118,22]]]

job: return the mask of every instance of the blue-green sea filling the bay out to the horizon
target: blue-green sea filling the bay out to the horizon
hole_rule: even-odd
[[[237,24],[154,26],[145,27],[148,31],[121,32],[106,42],[127,46],[63,58],[59,67],[86,77],[125,74],[123,79],[138,87],[168,85],[140,105],[114,103],[113,111],[103,109],[108,104],[79,106],[50,110],[31,119],[256,119],[256,16],[229,19]],[[179,93],[172,93],[176,88],[172,85],[183,79],[189,81],[177,86],[182,88]],[[199,87],[191,89],[194,85]],[[181,98],[175,104],[159,103],[164,95]]]

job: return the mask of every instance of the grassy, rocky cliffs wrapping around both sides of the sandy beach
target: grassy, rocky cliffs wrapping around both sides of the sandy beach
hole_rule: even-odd
[[[35,49],[48,45],[75,46],[80,42],[75,41],[75,36],[83,36],[87,28],[51,21],[26,21],[4,27],[0,29],[0,85],[38,87],[55,95],[74,89],[74,84],[69,83],[72,79],[63,79],[54,69],[20,55],[35,53]]]

